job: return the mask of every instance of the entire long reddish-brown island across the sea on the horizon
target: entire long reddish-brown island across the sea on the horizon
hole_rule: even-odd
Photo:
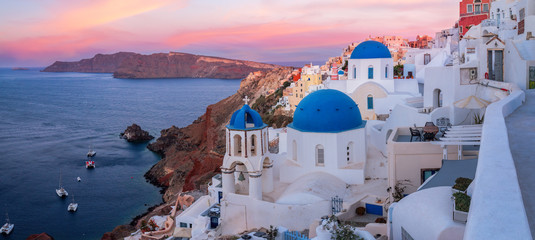
[[[170,52],[97,54],[77,62],[56,61],[43,72],[113,73],[115,78],[244,78],[274,64]]]

